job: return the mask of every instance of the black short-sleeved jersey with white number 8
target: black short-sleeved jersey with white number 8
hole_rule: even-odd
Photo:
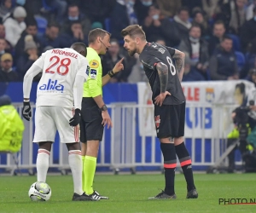
[[[148,77],[153,95],[152,101],[157,95],[160,95],[160,78],[155,68],[158,62],[162,62],[168,66],[168,83],[166,90],[172,95],[166,95],[163,102],[164,105],[177,105],[185,101],[183,89],[179,82],[177,71],[174,66],[172,55],[175,49],[162,46],[159,43],[147,43],[140,55],[140,61],[143,63],[143,68]]]

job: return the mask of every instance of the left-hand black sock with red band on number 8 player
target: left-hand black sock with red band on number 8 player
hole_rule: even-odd
[[[175,147],[173,143],[160,143],[160,148],[164,156],[164,169],[166,178],[165,193],[173,195],[174,192],[174,176],[177,164]]]

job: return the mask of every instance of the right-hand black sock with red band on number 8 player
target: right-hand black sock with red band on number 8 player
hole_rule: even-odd
[[[189,152],[185,147],[184,142],[175,146],[175,150],[176,150],[177,158],[179,159],[179,162],[183,169],[183,174],[187,181],[187,189],[188,191],[190,191],[191,189],[195,188],[195,184],[194,184],[194,177],[193,177],[193,171],[192,171],[192,165],[191,165],[192,163],[191,163]]]

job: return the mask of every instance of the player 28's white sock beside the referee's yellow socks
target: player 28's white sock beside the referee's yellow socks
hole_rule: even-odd
[[[68,162],[73,176],[74,193],[81,195],[82,190],[82,171],[83,163],[80,150],[71,150],[68,152]]]

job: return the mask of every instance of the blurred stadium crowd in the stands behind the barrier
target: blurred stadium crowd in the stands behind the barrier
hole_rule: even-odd
[[[95,28],[112,33],[103,75],[125,57],[111,82],[145,81],[138,57],[123,49],[120,32],[132,24],[143,26],[148,42],[187,55],[183,81],[252,81],[256,68],[255,0],[1,0],[0,19],[0,82],[22,81],[48,49],[88,44]]]

